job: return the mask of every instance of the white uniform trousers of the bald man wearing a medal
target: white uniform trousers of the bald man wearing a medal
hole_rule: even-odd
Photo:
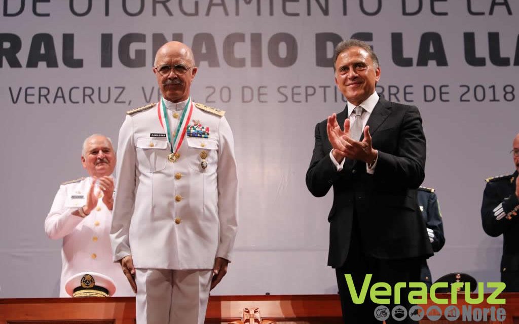
[[[135,269],[136,324],[203,324],[212,273]]]

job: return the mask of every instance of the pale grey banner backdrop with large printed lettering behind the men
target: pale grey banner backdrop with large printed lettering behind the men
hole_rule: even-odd
[[[350,37],[378,54],[377,91],[421,111],[446,236],[433,280],[499,280],[502,239],[480,207],[484,179],[514,171],[518,14],[506,0],[2,0],[0,298],[58,295],[61,240],[43,229],[54,194],[86,175],[85,137],[117,143],[125,111],[157,101],[169,40],[193,48],[193,98],[226,110],[236,140],[239,233],[214,294],[337,292],[331,193],[314,198],[305,173],[316,123],[345,107],[331,58]]]

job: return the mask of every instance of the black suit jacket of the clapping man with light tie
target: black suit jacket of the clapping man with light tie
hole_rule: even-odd
[[[339,125],[348,117],[347,107],[337,114]],[[306,174],[310,192],[324,196],[333,187],[328,265],[343,265],[352,230],[360,231],[364,253],[380,259],[429,257],[433,254],[417,202],[424,180],[426,140],[418,108],[380,98],[367,121],[373,148],[378,150],[375,174],[366,164],[346,159],[344,169],[330,159],[332,146],[326,120],[318,123],[316,143]],[[361,137],[362,140],[362,137]],[[353,229],[353,217],[359,228]]]

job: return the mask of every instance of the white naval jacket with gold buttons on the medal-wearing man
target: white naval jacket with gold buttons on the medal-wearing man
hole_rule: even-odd
[[[173,121],[172,111],[167,114]],[[128,112],[117,147],[114,261],[131,255],[137,268],[187,270],[212,269],[216,257],[231,259],[238,226],[233,134],[225,117],[196,106],[193,121],[209,127],[209,138],[186,134],[180,158],[170,162],[167,137],[151,136],[166,133],[157,105]]]

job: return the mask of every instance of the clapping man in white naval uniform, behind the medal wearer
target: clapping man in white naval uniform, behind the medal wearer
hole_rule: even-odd
[[[112,278],[114,296],[134,296],[121,267],[112,260],[115,153],[110,138],[94,134],[85,139],[81,163],[90,176],[63,182],[45,219],[47,235],[63,238],[60,297],[69,297],[65,283],[80,272]]]

